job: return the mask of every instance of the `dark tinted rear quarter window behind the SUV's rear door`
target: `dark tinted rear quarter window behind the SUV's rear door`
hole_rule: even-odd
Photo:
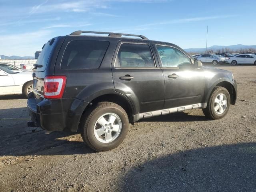
[[[71,41],[64,52],[62,69],[96,69],[99,68],[108,41]]]

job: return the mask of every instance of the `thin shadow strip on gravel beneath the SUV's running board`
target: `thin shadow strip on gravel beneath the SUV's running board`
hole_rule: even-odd
[[[152,118],[142,119],[138,122],[192,122],[192,121],[209,121],[204,115],[188,115],[186,112],[172,113],[169,115],[155,116]]]

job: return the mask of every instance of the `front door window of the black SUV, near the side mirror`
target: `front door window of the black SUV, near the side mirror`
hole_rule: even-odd
[[[190,65],[190,59],[180,50],[168,46],[156,46],[163,67]]]

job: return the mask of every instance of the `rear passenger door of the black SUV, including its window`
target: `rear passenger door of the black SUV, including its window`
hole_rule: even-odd
[[[137,105],[139,113],[164,106],[164,77],[147,43],[120,42],[112,65],[115,90]]]

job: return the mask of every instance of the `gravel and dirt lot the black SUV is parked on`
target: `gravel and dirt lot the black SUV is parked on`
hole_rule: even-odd
[[[219,68],[238,83],[225,118],[198,109],[146,119],[108,152],[28,128],[26,99],[0,98],[0,191],[256,191],[256,66]]]

